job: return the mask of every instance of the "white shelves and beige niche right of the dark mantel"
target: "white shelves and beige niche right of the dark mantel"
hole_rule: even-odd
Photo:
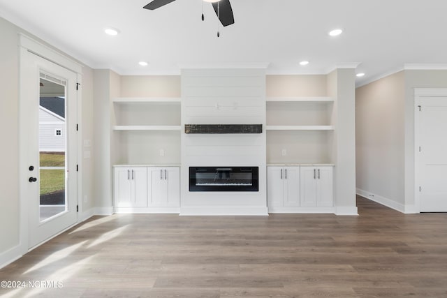
[[[266,98],[267,163],[331,163],[330,96]]]

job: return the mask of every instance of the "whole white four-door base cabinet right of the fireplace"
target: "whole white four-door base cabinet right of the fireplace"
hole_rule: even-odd
[[[270,213],[331,212],[334,205],[333,166],[268,166]]]

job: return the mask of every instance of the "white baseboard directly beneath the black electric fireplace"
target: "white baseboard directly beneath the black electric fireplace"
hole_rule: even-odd
[[[180,207],[181,216],[268,216],[267,207]]]

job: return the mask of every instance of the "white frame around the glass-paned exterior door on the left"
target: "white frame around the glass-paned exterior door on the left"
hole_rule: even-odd
[[[78,63],[76,63],[75,61],[69,59],[68,57],[64,56],[63,54],[52,50],[50,47],[47,47],[46,45],[43,45],[41,43],[38,43],[36,40],[33,40],[31,38],[29,38],[28,36],[20,33],[19,34],[19,51],[20,51],[20,61],[22,61],[22,57],[24,57],[25,54],[29,54],[29,52],[36,54],[39,57],[42,57],[43,59],[46,59],[48,61],[51,61],[54,64],[57,64],[61,67],[64,67],[68,70],[73,71],[74,73],[76,73],[77,76],[77,81],[78,83],[82,83],[82,66]],[[27,88],[26,86],[24,86],[23,82],[22,82],[22,68],[24,68],[24,66],[22,66],[22,64],[20,64],[20,105],[22,105],[22,88]],[[36,74],[38,75],[38,74]],[[82,108],[82,96],[81,96],[81,92],[78,92],[77,94],[77,101],[78,101],[78,114],[76,115],[77,117],[77,123],[80,124],[80,111]],[[20,109],[22,109],[21,106],[19,106]],[[24,192],[21,191],[22,189],[24,189],[22,186],[23,184],[26,183],[26,177],[29,175],[29,171],[27,169],[27,163],[25,162],[25,158],[24,156],[26,156],[26,147],[24,146],[24,144],[27,143],[27,139],[25,137],[25,132],[26,132],[26,128],[22,127],[22,123],[20,122],[20,133],[19,133],[19,156],[20,156],[20,161],[19,161],[19,185],[20,185],[20,251],[22,254],[27,253],[27,251],[29,251],[29,225],[28,225],[28,204],[27,204],[27,197],[26,195],[24,195]],[[80,155],[82,153],[82,134],[78,133],[78,165],[81,167],[82,165],[80,164],[82,162],[82,158],[80,158]],[[81,167],[82,168],[82,167]],[[78,172],[78,205],[79,205],[79,211],[82,211],[82,200],[80,200],[82,196],[82,174],[81,172]],[[80,216],[78,216],[78,221],[80,219]],[[63,231],[61,231],[63,232]],[[56,236],[56,235],[54,235]],[[54,237],[53,236],[53,237]]]

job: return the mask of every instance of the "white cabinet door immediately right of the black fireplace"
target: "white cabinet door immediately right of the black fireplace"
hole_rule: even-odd
[[[284,206],[284,169],[267,167],[267,205]]]

